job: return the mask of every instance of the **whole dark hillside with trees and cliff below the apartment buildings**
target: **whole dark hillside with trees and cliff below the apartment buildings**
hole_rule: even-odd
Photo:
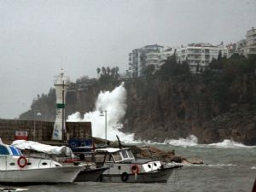
[[[186,62],[177,63],[174,56],[157,72],[149,66],[143,78],[125,80],[123,131],[157,142],[193,134],[200,143],[231,138],[256,145],[255,58],[219,58],[200,74],[190,74]],[[110,73],[100,79],[78,79],[67,92],[66,114],[91,111],[100,90],[113,90],[119,83]],[[36,108],[42,109],[42,119],[53,121],[55,90],[38,96],[32,102]],[[32,111],[20,114],[20,119],[32,119]]]

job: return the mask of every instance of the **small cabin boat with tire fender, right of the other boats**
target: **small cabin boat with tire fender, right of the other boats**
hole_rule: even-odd
[[[96,165],[108,169],[102,173],[102,182],[166,183],[172,172],[182,165],[166,166],[160,160],[136,160],[130,148],[98,148]]]

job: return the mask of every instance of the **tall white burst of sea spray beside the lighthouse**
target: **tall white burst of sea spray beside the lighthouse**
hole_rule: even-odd
[[[121,131],[123,125],[120,121],[125,116],[125,102],[126,90],[122,83],[112,91],[101,91],[96,99],[94,111],[85,113],[84,117],[79,112],[73,113],[67,117],[67,121],[91,122],[92,136],[105,138],[105,114],[107,114],[107,139],[115,141],[118,135],[121,141],[131,142],[134,140],[134,134],[125,134]]]

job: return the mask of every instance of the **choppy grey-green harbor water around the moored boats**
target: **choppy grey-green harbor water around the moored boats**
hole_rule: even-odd
[[[168,183],[71,183],[32,185],[33,192],[102,192],[102,191],[251,191],[256,177],[256,147],[228,145],[172,146],[154,144],[164,150],[175,149],[179,156],[199,158],[204,166],[183,166]],[[179,179],[178,179],[179,178]]]

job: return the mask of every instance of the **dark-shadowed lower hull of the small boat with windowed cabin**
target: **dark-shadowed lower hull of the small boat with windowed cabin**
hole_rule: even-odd
[[[102,182],[106,183],[166,183],[171,177],[173,168],[161,169],[156,172],[135,174],[102,174]]]

